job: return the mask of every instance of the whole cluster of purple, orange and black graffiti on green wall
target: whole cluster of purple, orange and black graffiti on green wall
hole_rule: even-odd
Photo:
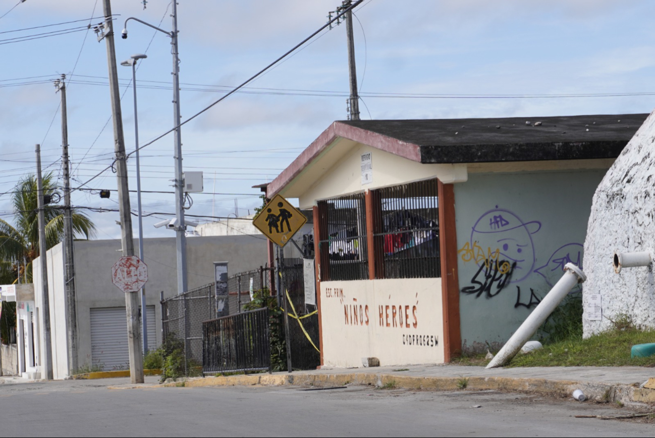
[[[493,298],[514,284],[517,288],[514,308],[530,309],[539,304],[540,298],[533,289],[524,288],[521,292],[516,283],[537,273],[548,287],[552,287],[567,263],[582,267],[583,248],[580,243],[567,243],[555,250],[544,266],[538,266],[533,235],[541,228],[542,222],[525,222],[512,211],[499,209],[498,205],[483,213],[471,229],[470,240],[457,251],[462,262],[477,266],[470,285],[462,287],[461,292],[475,294],[476,298],[483,295]]]

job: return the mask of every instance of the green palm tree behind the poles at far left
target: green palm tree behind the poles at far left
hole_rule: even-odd
[[[43,178],[43,193],[56,195],[56,184],[52,173]],[[14,222],[0,219],[0,282],[12,283],[18,275],[25,275],[31,281],[31,262],[39,256],[39,221],[37,207],[37,179],[33,174],[24,176],[12,194]],[[46,246],[48,249],[62,241],[64,237],[64,209],[60,205],[48,204],[44,207]],[[73,209],[73,233],[94,237],[96,226],[83,213]],[[24,264],[24,273],[20,266]]]

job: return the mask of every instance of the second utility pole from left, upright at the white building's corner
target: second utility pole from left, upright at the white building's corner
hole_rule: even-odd
[[[73,212],[71,211],[71,179],[68,161],[68,119],[66,111],[66,75],[54,86],[62,96],[62,165],[64,167],[64,285],[66,291],[66,334],[68,340],[68,368],[77,366],[77,306],[75,300],[75,260],[73,256]]]

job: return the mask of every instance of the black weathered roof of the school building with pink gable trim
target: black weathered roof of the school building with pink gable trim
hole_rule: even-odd
[[[489,163],[616,158],[646,117],[648,114],[339,123],[417,145],[421,163]]]

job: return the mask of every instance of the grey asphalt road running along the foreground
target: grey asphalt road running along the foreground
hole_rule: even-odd
[[[354,386],[107,389],[115,382],[0,385],[0,435],[58,437],[652,437],[655,424],[574,418],[631,411],[499,391]],[[480,407],[474,407],[480,406]]]

